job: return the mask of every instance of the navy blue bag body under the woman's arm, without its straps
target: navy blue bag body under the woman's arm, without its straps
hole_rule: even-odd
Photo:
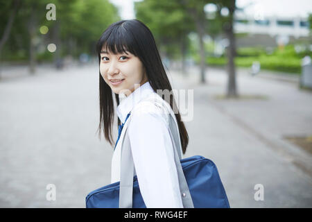
[[[181,160],[195,208],[229,208],[229,201],[214,162],[200,155]],[[137,176],[133,179],[133,208],[146,208]],[[87,195],[87,208],[118,208],[119,182],[98,188]]]

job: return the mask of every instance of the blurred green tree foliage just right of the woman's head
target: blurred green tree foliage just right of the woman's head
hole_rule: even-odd
[[[162,53],[172,59],[182,57],[181,44],[185,44],[187,48],[187,34],[195,28],[180,0],[135,2],[135,12],[137,19],[150,28]]]

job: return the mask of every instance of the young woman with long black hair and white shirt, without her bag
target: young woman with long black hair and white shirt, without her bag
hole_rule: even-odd
[[[171,112],[175,110],[175,121],[180,134],[182,153],[187,150],[189,137],[174,98],[165,101],[157,89],[172,92],[159,51],[149,28],[137,19],[122,20],[111,24],[101,35],[96,46],[99,60],[100,124],[105,139],[113,146],[112,123],[114,122],[114,97],[118,115],[119,138],[112,157],[112,179],[120,179],[121,126],[128,124],[135,174],[139,182],[146,207],[183,207],[177,169],[173,155],[173,144],[168,129],[167,103]],[[164,91],[162,91],[164,92]],[[119,103],[119,99],[124,97]],[[142,101],[154,98],[148,109]],[[153,104],[153,101],[155,104]],[[168,106],[170,105],[170,106]],[[134,110],[145,112],[134,112]],[[176,111],[177,110],[177,111]],[[122,123],[122,124],[121,124]],[[181,151],[180,151],[181,152]]]

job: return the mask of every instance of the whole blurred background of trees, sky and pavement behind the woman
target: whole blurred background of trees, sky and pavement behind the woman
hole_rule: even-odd
[[[144,22],[173,89],[193,90],[184,157],[216,163],[231,207],[312,207],[311,1],[1,0],[0,12],[0,207],[85,207],[110,184],[95,45],[121,19]]]

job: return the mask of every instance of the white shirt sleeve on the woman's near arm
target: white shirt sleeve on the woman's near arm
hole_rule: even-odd
[[[137,180],[148,208],[183,207],[168,123],[160,112],[133,112],[128,126]]]

